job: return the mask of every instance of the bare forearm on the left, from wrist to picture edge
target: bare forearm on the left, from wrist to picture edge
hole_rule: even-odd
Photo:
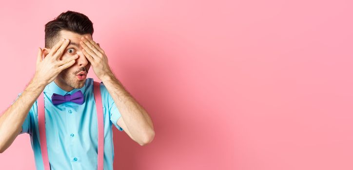
[[[0,117],[0,153],[19,135],[22,124],[45,85],[33,78],[20,97]]]

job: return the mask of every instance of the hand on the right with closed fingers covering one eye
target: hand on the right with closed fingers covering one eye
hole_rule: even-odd
[[[112,70],[108,65],[108,57],[99,45],[88,36],[82,36],[81,40],[80,44],[83,47],[82,52],[91,63],[98,79],[103,80],[105,76],[112,75]]]

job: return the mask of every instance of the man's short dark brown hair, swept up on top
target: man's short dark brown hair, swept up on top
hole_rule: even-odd
[[[85,15],[67,11],[61,13],[54,20],[45,24],[45,47],[52,48],[58,38],[61,30],[71,31],[78,34],[91,34],[93,35],[93,23]]]

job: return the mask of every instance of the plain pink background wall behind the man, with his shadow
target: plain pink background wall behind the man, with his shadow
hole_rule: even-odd
[[[0,109],[35,73],[44,24],[73,10],[153,119],[114,128],[116,170],[352,170],[351,0],[4,1]],[[88,74],[97,80],[92,68]],[[35,169],[27,134],[0,169]]]

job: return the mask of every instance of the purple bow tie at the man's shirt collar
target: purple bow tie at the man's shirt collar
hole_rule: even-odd
[[[83,104],[83,94],[81,90],[78,90],[74,94],[67,94],[65,96],[61,96],[59,94],[53,93],[52,102],[54,105],[63,103],[63,102],[76,102],[78,104]]]

